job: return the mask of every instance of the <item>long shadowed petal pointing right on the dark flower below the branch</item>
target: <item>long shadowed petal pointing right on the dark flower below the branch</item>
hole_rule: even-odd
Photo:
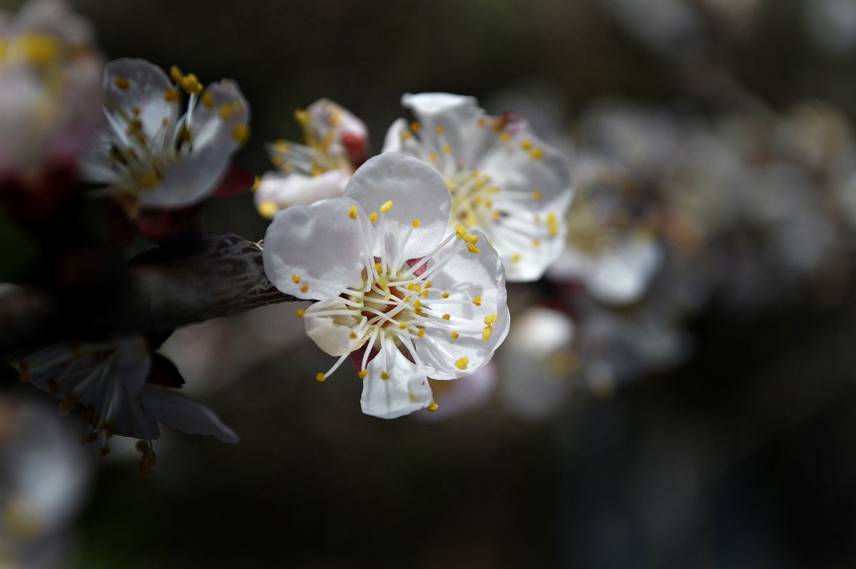
[[[238,442],[235,431],[223,424],[210,409],[175,390],[146,384],[140,398],[149,412],[168,427],[188,435],[211,435],[218,441]]]

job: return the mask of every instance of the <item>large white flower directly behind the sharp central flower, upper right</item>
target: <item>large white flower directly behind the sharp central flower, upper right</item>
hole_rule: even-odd
[[[562,153],[514,114],[490,117],[473,97],[406,94],[419,122],[389,127],[383,151],[430,163],[452,195],[452,224],[479,228],[508,281],[534,281],[562,253],[571,175]]]

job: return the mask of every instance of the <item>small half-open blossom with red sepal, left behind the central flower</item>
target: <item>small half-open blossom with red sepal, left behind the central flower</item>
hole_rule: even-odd
[[[255,201],[259,213],[273,217],[289,205],[309,205],[342,195],[354,169],[366,162],[366,124],[347,109],[322,98],[294,112],[303,142],[277,140],[267,146],[279,171],[261,177]]]

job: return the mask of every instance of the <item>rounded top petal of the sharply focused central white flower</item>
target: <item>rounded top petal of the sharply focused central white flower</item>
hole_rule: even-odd
[[[449,224],[451,198],[443,178],[428,164],[396,152],[372,157],[360,166],[344,195],[366,212],[377,213],[373,252],[381,256],[385,247],[388,261],[400,258],[403,263],[430,253]],[[392,208],[382,213],[388,201]],[[418,228],[413,228],[414,220],[419,220]]]

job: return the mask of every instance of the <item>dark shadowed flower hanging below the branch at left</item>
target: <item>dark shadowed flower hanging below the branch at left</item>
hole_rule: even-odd
[[[160,436],[158,422],[223,442],[238,440],[211,411],[172,389],[181,386],[181,376],[169,360],[150,353],[140,336],[16,353],[12,365],[22,380],[61,397],[63,414],[83,407],[80,417],[90,426],[80,442],[98,439],[99,452],[105,455],[110,452],[110,436],[140,439],[144,471],[154,464],[152,441]]]

